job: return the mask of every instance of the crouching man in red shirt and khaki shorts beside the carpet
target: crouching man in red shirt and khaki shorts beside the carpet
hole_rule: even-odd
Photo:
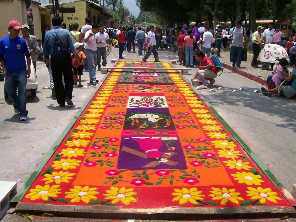
[[[209,86],[212,86],[215,82],[214,78],[217,77],[218,70],[214,66],[215,63],[213,62],[213,60],[209,57],[205,57],[205,54],[202,51],[197,51],[195,53],[195,59],[197,61],[200,61],[200,66],[198,66],[198,70],[196,71],[191,81],[199,76],[199,79],[202,81],[202,85],[198,87],[200,87],[201,89],[207,89],[205,79],[209,80]]]

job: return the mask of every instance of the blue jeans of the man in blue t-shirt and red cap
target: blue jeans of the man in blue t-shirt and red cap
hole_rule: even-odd
[[[8,98],[12,100],[13,107],[17,108],[20,112],[19,116],[27,116],[27,71],[21,71],[19,73],[8,73],[8,77],[5,77],[4,83],[5,91],[8,94]]]

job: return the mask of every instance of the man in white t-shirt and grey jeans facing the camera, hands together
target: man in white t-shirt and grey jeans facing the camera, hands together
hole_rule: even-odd
[[[101,57],[102,57],[102,66],[107,65],[107,52],[106,52],[106,43],[109,47],[109,36],[104,32],[104,27],[101,25],[99,32],[96,33],[96,58],[98,64],[98,71],[101,71]]]

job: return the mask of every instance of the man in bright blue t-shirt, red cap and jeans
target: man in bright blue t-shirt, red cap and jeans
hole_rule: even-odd
[[[9,22],[9,36],[0,39],[0,62],[5,77],[4,90],[13,102],[15,113],[19,114],[21,121],[25,121],[28,115],[27,78],[31,73],[31,58],[27,41],[18,36],[21,29],[19,22]]]

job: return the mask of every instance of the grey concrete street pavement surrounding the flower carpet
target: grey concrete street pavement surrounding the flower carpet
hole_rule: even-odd
[[[160,61],[170,61],[176,59],[177,56],[177,53],[173,53],[173,49],[164,49],[158,53]],[[107,66],[114,65],[111,64],[111,59],[118,59],[117,55],[118,48],[112,48],[110,57],[107,57]],[[141,59],[139,56],[135,57],[137,53],[124,52],[123,55],[129,59]],[[227,52],[221,53],[221,56],[227,58]],[[148,60],[154,61],[154,58]],[[4,100],[3,82],[0,82],[0,122],[2,126],[0,129],[0,162],[2,163],[0,180],[16,181],[18,188],[38,165],[43,157],[42,153],[52,146],[89,95],[96,90],[96,87],[89,84],[88,73],[83,73],[82,84],[88,84],[90,88],[78,89],[74,86],[73,103],[75,106],[60,108],[56,100],[52,99],[51,91],[42,90],[44,86],[49,86],[49,75],[42,62],[37,62],[37,64],[39,88],[35,98],[28,93],[29,115],[25,122],[18,120],[18,115],[14,114],[11,102]],[[196,70],[197,68],[193,68],[189,72],[190,75],[184,78],[190,81]],[[98,80],[103,77],[104,74],[97,72]],[[295,100],[286,99],[283,96],[266,97],[253,93],[262,85],[229,70],[224,70],[223,74],[215,80],[215,84],[211,87],[216,90],[215,93],[209,93],[207,89],[203,89],[199,91],[200,94],[210,102],[276,178],[291,191],[292,184],[295,183],[296,172]],[[218,91],[219,86],[223,86],[225,90]],[[246,90],[239,91],[239,93],[231,92],[232,89],[239,87],[244,87]],[[34,221],[57,221],[57,219],[34,218]],[[5,215],[1,221],[25,220],[27,219],[17,215]],[[71,221],[96,220],[71,219]]]

